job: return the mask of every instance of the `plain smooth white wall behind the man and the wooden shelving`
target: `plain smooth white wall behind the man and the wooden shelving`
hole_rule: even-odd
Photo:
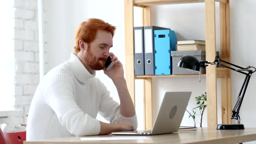
[[[101,3],[101,4],[99,4]],[[90,18],[97,17],[117,26],[117,31],[114,36],[114,46],[112,52],[115,53],[120,61],[125,65],[124,56],[124,2],[120,0],[112,1],[61,1],[61,0],[45,0],[45,5],[49,8],[48,15],[45,19],[49,20],[46,32],[48,32],[49,43],[48,49],[48,67],[53,68],[55,65],[66,61],[69,58],[70,52],[74,46],[75,28],[80,22]],[[247,67],[248,65],[256,66],[255,58],[255,35],[256,20],[253,18],[256,14],[254,9],[256,1],[240,0],[230,2],[230,31],[231,31],[231,63]],[[139,10],[138,10],[139,11]],[[138,14],[140,15],[140,14]],[[137,15],[136,15],[137,17]],[[205,15],[203,3],[196,4],[177,4],[177,5],[159,5],[152,8],[152,24],[162,27],[170,27],[176,31],[178,40],[183,39],[205,39]],[[216,26],[217,26],[217,50],[219,50],[219,5],[216,3]],[[135,26],[138,26],[139,17],[135,20]],[[118,100],[117,92],[111,81],[102,72],[97,73],[97,77],[101,77],[106,83],[111,95]],[[237,93],[241,87],[244,75],[231,72],[231,88],[232,88],[232,105],[234,105]],[[256,127],[254,123],[256,117],[254,101],[256,100],[253,87],[255,84],[255,76],[251,78],[246,97],[241,107],[240,115],[241,122],[245,127]],[[218,89],[220,90],[220,82]],[[136,87],[141,86],[141,81],[136,80]],[[161,85],[161,86],[160,86]],[[201,82],[198,77],[183,77],[183,78],[168,78],[154,79],[153,85],[153,116],[159,109],[162,95],[165,91],[192,91],[192,97],[189,102],[188,109],[195,106],[194,97],[206,91],[205,77],[201,77]],[[220,104],[218,91],[218,104]],[[136,94],[139,96],[142,91],[136,89]],[[141,99],[141,98],[139,98]],[[139,106],[137,106],[139,107]],[[220,107],[218,107],[220,110]],[[137,112],[138,113],[138,112]],[[219,112],[220,113],[220,112]],[[142,118],[142,113],[138,115],[139,120]],[[206,127],[206,115],[203,122],[203,127]],[[220,122],[219,116],[219,122]],[[139,128],[143,123],[140,121]],[[182,125],[193,125],[192,119],[188,115],[184,116]]]

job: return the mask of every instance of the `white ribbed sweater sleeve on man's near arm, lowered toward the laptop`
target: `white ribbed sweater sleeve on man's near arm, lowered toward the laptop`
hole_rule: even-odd
[[[97,135],[100,122],[84,113],[75,103],[71,75],[57,71],[44,85],[44,99],[53,109],[61,125],[75,136]]]

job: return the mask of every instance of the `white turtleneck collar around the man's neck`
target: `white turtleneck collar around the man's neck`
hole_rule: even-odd
[[[73,75],[81,82],[86,83],[94,74],[90,74],[89,71],[84,67],[80,59],[72,52],[69,60],[67,61],[69,68],[71,69]]]

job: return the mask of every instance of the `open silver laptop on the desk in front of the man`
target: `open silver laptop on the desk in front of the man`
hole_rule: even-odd
[[[166,92],[153,129],[113,132],[113,135],[158,135],[179,130],[191,92]]]

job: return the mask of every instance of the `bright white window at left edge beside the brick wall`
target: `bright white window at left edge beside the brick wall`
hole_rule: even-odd
[[[0,2],[0,110],[14,106],[14,2]]]

